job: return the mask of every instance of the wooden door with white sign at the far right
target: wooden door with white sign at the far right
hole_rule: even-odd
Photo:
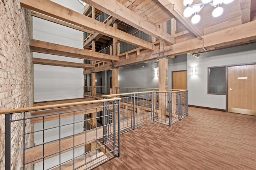
[[[256,65],[228,67],[228,111],[256,115]]]

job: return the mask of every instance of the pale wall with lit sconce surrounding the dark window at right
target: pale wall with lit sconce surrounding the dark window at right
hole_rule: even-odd
[[[188,104],[226,109],[226,95],[208,95],[208,67],[256,62],[256,44],[201,53],[197,59],[188,55]],[[192,67],[196,75],[192,76]]]

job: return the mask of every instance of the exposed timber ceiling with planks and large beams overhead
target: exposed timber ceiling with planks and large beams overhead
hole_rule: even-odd
[[[223,47],[232,47],[240,44],[254,43],[256,41],[256,0],[234,0],[230,4],[221,4],[224,9],[221,16],[214,18],[214,7],[205,6],[200,12],[201,20],[198,24],[191,23],[191,17],[184,18],[182,13],[186,8],[183,0],[82,0],[87,3],[85,15],[72,11],[51,2],[50,0],[21,0],[24,8],[33,10],[33,16],[56,22],[92,34],[84,41],[84,47],[92,47],[92,40],[97,46],[113,40],[122,40],[138,46],[137,49],[119,54],[117,56],[102,55],[87,49],[74,49],[65,47],[65,56],[95,59],[99,61],[84,74],[92,71],[104,71],[112,67],[121,67],[141,63],[161,56],[171,56],[184,53],[201,53]],[[201,0],[194,0],[193,4]],[[110,15],[106,22],[101,23],[91,18],[92,7],[95,15],[105,12]],[[50,8],[51,7],[51,8]],[[54,10],[53,10],[54,9]],[[36,13],[36,14],[35,14]],[[88,15],[88,16],[86,16]],[[171,20],[172,34],[166,33],[166,22]],[[114,28],[113,23],[118,23]],[[120,24],[121,23],[121,24]],[[134,27],[142,32],[152,35],[159,41],[150,43],[124,32],[128,27]],[[159,27],[160,26],[160,27]],[[181,32],[175,32],[182,30]],[[162,41],[163,43],[159,43]],[[37,52],[56,53],[62,51],[58,45],[47,42],[34,41],[31,48],[40,48]],[[164,44],[164,47],[160,47]],[[49,48],[49,49],[47,49]],[[90,49],[89,48],[89,49]],[[160,50],[161,49],[161,50]],[[86,55],[88,52],[88,55]],[[110,58],[113,57],[113,60]],[[53,61],[51,61],[53,62]],[[37,61],[37,64],[40,63]],[[44,64],[46,62],[42,62]],[[72,64],[72,63],[70,63]],[[90,65],[86,65],[88,67]],[[68,66],[67,66],[68,67]],[[83,66],[85,67],[85,66]]]

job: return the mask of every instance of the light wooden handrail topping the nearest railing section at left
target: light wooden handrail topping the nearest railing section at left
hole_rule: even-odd
[[[63,103],[63,104],[56,104],[56,105],[45,105],[45,106],[35,106],[35,107],[25,107],[20,109],[9,109],[9,110],[3,110],[0,111],[0,115],[4,114],[10,114],[10,113],[22,113],[22,112],[29,112],[29,111],[38,111],[38,110],[44,110],[44,109],[55,109],[60,107],[70,107],[70,106],[76,106],[76,105],[87,105],[87,104],[94,104],[94,103],[102,103],[102,102],[108,102],[108,101],[116,101],[121,100],[121,98],[118,97],[108,97],[109,99],[100,99],[100,100],[94,100],[94,101],[81,101],[81,102],[74,102],[74,103]]]

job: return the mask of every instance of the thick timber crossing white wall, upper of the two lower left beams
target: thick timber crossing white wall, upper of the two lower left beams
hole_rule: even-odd
[[[52,55],[60,55],[65,57],[73,57],[80,59],[88,59],[94,61],[103,61],[110,63],[112,60],[118,61],[119,57],[104,53],[97,53],[86,49],[78,49],[55,43],[43,42],[30,39],[30,51],[38,53],[46,53]]]

